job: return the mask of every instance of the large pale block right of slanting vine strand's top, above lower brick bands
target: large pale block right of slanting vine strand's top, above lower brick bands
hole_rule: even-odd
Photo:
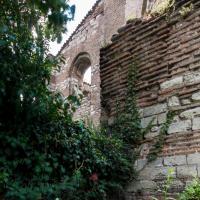
[[[169,129],[167,132],[168,134],[179,133],[179,132],[185,132],[185,131],[191,130],[191,128],[192,128],[191,120],[183,120],[183,121],[172,123],[169,126]]]

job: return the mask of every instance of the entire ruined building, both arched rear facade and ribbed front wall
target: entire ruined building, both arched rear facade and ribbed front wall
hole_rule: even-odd
[[[137,58],[142,127],[152,120],[153,127],[141,143],[135,163],[139,176],[127,187],[127,200],[159,197],[169,168],[174,171],[171,196],[200,177],[200,1],[176,0],[170,16],[142,19],[155,2],[97,1],[61,49],[66,64],[53,77],[54,89],[64,95],[76,85],[82,89],[85,97],[76,117],[111,122],[116,100],[125,100],[127,69]],[[91,85],[83,82],[89,67]],[[169,111],[175,117],[162,151],[148,162]]]

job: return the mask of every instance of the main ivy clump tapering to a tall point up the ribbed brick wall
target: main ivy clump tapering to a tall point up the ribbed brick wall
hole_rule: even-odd
[[[136,144],[144,137],[141,127],[140,113],[137,107],[136,96],[137,82],[137,63],[133,62],[129,67],[126,101],[124,108],[120,107],[119,102],[116,105],[116,117],[111,132],[118,135],[127,144]],[[123,109],[123,111],[122,111]]]

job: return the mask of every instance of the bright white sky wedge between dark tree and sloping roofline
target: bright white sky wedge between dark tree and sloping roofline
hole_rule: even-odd
[[[78,24],[82,21],[82,19],[86,16],[88,11],[92,8],[92,6],[95,4],[97,0],[70,0],[69,4],[76,5],[76,12],[75,12],[75,18],[74,21],[68,22],[67,29],[68,32],[63,35],[63,40],[60,44],[57,44],[56,42],[53,42],[50,44],[50,52],[53,55],[56,55],[62,45],[65,43],[67,38],[73,33],[73,31],[76,29]]]

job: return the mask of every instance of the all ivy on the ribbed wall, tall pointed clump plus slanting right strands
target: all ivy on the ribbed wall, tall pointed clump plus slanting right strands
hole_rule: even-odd
[[[111,133],[118,135],[119,138],[127,144],[129,151],[133,148],[137,149],[139,142],[145,138],[145,135],[149,133],[153,127],[152,124],[154,120],[154,118],[152,118],[147,127],[142,128],[139,108],[137,106],[137,75],[137,62],[133,61],[128,70],[127,91],[124,108],[121,108],[120,102],[117,101],[116,117],[111,126]],[[159,136],[147,156],[149,162],[155,160],[163,149],[165,135],[167,134],[167,130],[172,123],[174,115],[174,112],[167,113],[166,122],[162,125]],[[138,151],[134,151],[135,159],[137,158],[138,154]]]

